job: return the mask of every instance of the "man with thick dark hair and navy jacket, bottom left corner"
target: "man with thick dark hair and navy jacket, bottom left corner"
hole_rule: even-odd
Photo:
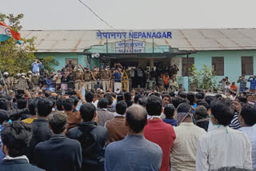
[[[0,171],[43,171],[33,165],[25,156],[26,145],[32,136],[31,125],[22,121],[6,122],[2,125],[2,150],[6,157],[0,164]]]

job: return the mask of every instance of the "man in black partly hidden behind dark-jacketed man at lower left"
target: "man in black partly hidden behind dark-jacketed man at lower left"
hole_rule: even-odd
[[[39,142],[43,142],[49,140],[52,132],[48,127],[48,121],[46,117],[51,113],[53,106],[53,102],[47,99],[46,97],[42,98],[38,101],[37,114],[38,119],[32,121],[32,129],[33,135],[30,141],[30,145],[26,149],[26,155],[30,159],[30,163],[34,164],[34,148],[38,145]]]

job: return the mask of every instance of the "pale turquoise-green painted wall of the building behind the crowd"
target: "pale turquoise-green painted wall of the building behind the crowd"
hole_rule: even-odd
[[[152,45],[152,44],[151,44]],[[112,43],[111,46],[114,46]],[[150,49],[151,47],[151,49]],[[112,49],[114,47],[111,47]],[[146,52],[152,51],[152,46],[146,45]],[[155,47],[155,52],[166,52],[169,50],[169,46],[158,46]],[[90,53],[102,53],[106,52],[106,45],[103,46],[92,46],[89,50]],[[109,51],[112,52],[112,51]],[[114,51],[113,51],[114,52]],[[112,53],[113,53],[112,52]],[[90,65],[85,55],[77,53],[35,53],[38,58],[45,58],[54,56],[54,59],[59,62],[59,66],[54,66],[55,71],[61,70],[62,66],[66,65],[66,58],[78,58],[78,63],[82,66],[92,67],[100,66],[98,58],[91,58]],[[203,64],[211,67],[212,57],[224,57],[224,75],[218,76],[217,81],[227,76],[230,81],[237,81],[238,77],[242,74],[242,56],[252,56],[254,59],[254,74],[256,74],[256,50],[230,50],[230,51],[198,51],[197,54],[190,54],[190,58],[194,58],[194,65],[197,70],[202,70]],[[186,58],[186,56],[178,56],[178,58]],[[249,78],[250,76],[246,76]],[[188,78],[179,78],[179,82],[182,83],[185,89],[188,89]],[[249,83],[247,83],[249,86]]]

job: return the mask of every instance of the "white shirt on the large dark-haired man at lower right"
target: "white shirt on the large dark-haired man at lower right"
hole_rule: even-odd
[[[211,126],[198,141],[196,170],[222,167],[252,169],[251,145],[246,135],[228,126]]]

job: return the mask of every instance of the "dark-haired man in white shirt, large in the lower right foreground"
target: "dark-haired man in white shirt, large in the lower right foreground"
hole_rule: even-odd
[[[226,99],[210,103],[213,126],[198,141],[196,170],[206,171],[222,167],[252,169],[251,145],[246,135],[230,129],[234,105]]]

